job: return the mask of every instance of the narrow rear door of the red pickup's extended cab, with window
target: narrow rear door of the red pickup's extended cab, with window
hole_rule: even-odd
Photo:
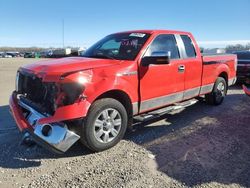
[[[191,36],[178,35],[178,40],[182,46],[182,58],[185,69],[185,84],[183,99],[190,99],[198,96],[201,86],[202,60],[200,53],[197,54]]]

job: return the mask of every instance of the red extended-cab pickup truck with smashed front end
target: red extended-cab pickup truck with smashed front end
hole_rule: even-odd
[[[134,116],[200,96],[221,104],[236,67],[236,55],[202,55],[188,32],[120,32],[83,57],[21,67],[10,109],[21,131],[53,151],[78,139],[102,151],[123,138]]]

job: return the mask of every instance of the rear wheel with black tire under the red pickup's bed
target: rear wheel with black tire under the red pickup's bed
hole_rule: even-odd
[[[219,89],[220,86],[222,86],[224,89]],[[218,77],[215,81],[212,92],[205,95],[207,104],[220,105],[227,94],[227,88],[226,80],[222,77]]]

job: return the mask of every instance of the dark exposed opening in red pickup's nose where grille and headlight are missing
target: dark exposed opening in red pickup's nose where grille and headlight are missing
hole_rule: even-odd
[[[54,115],[58,107],[73,104],[83,89],[78,83],[42,82],[42,79],[35,75],[17,73],[16,92],[20,98],[32,103],[38,111],[49,115]]]

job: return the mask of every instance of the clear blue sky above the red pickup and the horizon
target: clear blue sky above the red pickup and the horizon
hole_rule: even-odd
[[[133,29],[190,31],[201,46],[250,42],[250,0],[1,0],[0,46],[89,46]]]

